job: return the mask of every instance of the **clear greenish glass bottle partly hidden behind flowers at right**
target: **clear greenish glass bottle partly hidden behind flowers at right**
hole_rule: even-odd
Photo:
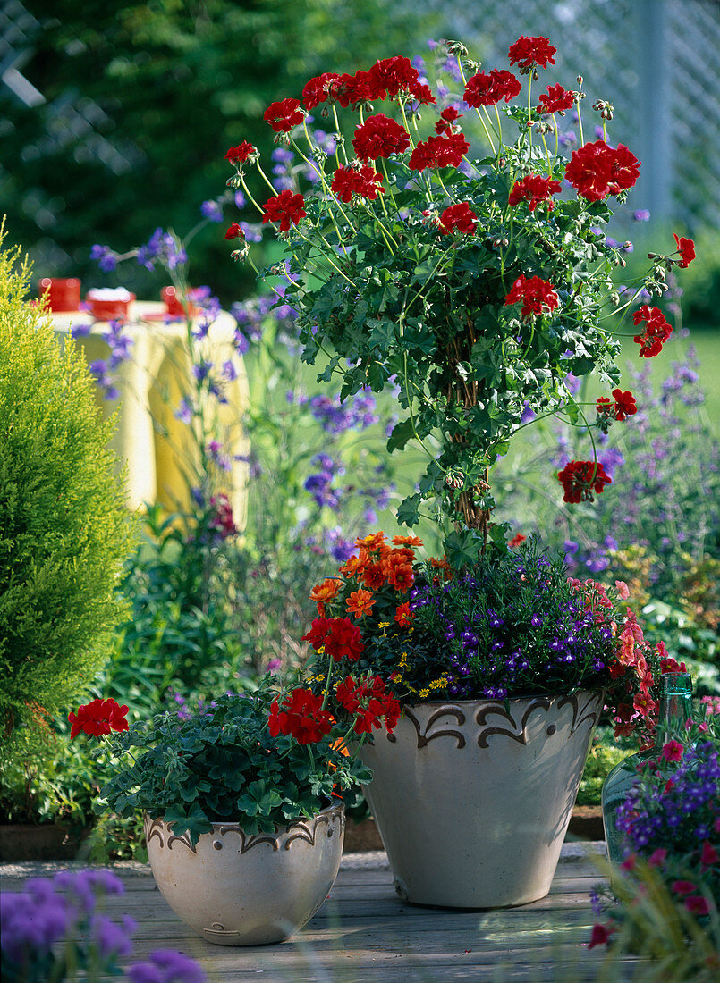
[[[622,830],[618,829],[618,806],[625,802],[630,788],[637,781],[637,769],[644,762],[657,758],[663,744],[675,739],[685,742],[685,723],[692,716],[692,681],[690,672],[666,672],[661,677],[660,711],[653,747],[625,758],[603,782],[602,807],[608,859],[614,864],[625,860]]]

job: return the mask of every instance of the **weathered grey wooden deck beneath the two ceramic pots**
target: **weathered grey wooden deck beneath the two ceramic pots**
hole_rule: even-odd
[[[328,900],[306,928],[278,946],[213,946],[175,916],[142,865],[118,865],[126,893],[105,898],[111,917],[138,921],[133,959],[170,948],[197,959],[209,981],[270,983],[435,983],[526,980],[583,983],[596,978],[597,951],[587,952],[594,916],[589,892],[601,877],[592,849],[564,847],[553,888],[531,904],[493,911],[421,908],[401,901],[383,854],[343,860]],[[597,852],[597,844],[594,847]],[[3,891],[28,876],[52,876],[76,864],[6,865]],[[618,979],[634,963],[619,963]]]

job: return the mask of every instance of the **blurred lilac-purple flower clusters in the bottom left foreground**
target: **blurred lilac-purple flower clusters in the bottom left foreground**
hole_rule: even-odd
[[[0,896],[2,977],[6,983],[99,983],[122,975],[131,983],[204,983],[198,963],[174,950],[128,962],[136,922],[103,913],[105,896],[122,896],[109,870],[61,871],[33,877],[19,892]],[[123,965],[124,963],[124,965]]]

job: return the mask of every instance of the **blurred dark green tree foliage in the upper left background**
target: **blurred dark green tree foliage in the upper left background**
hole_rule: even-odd
[[[189,229],[228,176],[225,150],[250,138],[270,155],[271,101],[299,98],[323,71],[355,71],[419,50],[428,16],[384,0],[26,0],[36,20],[16,34],[26,79],[44,96],[24,105],[0,87],[6,117],[0,214],[39,276],[84,288],[157,287],[142,267],[123,281],[97,271],[93,243],[119,252],[153,229]],[[258,188],[258,194],[264,191]],[[233,206],[228,223],[242,216]],[[227,260],[224,226],[196,243],[195,284],[223,303],[246,293]]]

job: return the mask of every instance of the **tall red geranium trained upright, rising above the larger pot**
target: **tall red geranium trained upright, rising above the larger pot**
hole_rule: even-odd
[[[321,378],[342,379],[342,396],[390,379],[400,387],[390,451],[414,440],[427,458],[417,491],[398,508],[415,525],[425,500],[439,523],[450,520],[445,549],[461,566],[485,551],[489,538],[504,548],[503,525],[491,522],[490,469],[526,414],[557,415],[584,429],[603,428],[632,413],[618,383],[618,311],[633,325],[640,357],[659,353],[672,330],[658,308],[641,304],[665,289],[673,266],[694,256],[690,240],[649,254],[647,273],[621,299],[613,282],[625,264],[619,244],[602,227],[608,202],[624,202],[640,162],[607,140],[613,107],[598,99],[602,138],[586,141],[577,88],[551,86],[536,94],[539,71],[556,49],[543,37],[510,46],[526,87],[510,70],[481,71],[465,47],[448,42],[461,90],[436,95],[407,58],[386,58],[355,75],[324,73],[297,98],[273,102],[265,119],[276,140],[314,171],[304,194],[276,187],[249,141],[231,147],[232,188],[242,188],[264,224],[285,246],[290,279],[283,302],[297,313],[303,358],[325,362]],[[438,88],[440,92],[440,88]],[[517,101],[515,101],[517,100]],[[378,107],[378,103],[384,103]],[[382,108],[385,111],[378,111]],[[309,129],[309,113],[331,119],[331,149]],[[350,139],[340,110],[356,114]],[[558,117],[577,114],[579,145],[563,153]],[[428,123],[428,115],[432,120]],[[489,150],[477,157],[463,133],[475,115]],[[509,129],[514,136],[509,137]],[[271,197],[256,202],[245,173],[258,167]],[[561,197],[563,183],[570,187]],[[235,259],[249,258],[245,233]],[[275,270],[277,271],[277,270]],[[592,409],[566,379],[596,371],[607,395]],[[610,484],[592,453],[570,461],[558,478],[566,501],[589,500]]]

